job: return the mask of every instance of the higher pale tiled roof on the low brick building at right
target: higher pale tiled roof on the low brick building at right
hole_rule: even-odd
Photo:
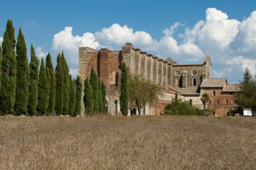
[[[226,78],[210,78],[203,79],[200,87],[224,87],[226,84]]]

